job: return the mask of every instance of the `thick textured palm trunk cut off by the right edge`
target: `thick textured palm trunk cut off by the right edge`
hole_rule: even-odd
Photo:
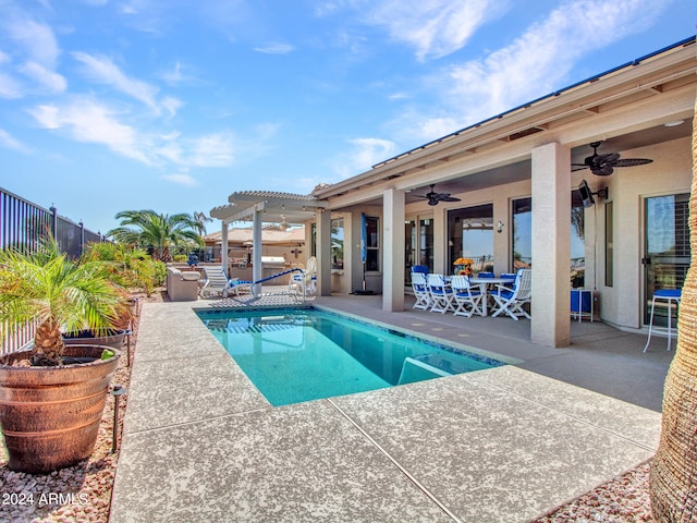
[[[697,100],[689,195],[692,260],[683,284],[677,348],[663,390],[661,440],[651,463],[651,511],[659,522],[697,521]]]

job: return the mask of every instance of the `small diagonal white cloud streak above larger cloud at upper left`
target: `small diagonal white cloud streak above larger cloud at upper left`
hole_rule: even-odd
[[[117,90],[142,101],[157,114],[164,109],[170,112],[170,115],[173,115],[182,105],[173,97],[158,100],[158,87],[127,76],[107,57],[76,51],[73,52],[73,58],[85,65],[85,71],[93,81],[113,86]]]

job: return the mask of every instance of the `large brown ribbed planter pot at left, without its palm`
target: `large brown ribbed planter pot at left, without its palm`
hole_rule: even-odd
[[[118,351],[99,360],[103,349],[69,345],[66,356],[97,360],[58,367],[9,366],[28,351],[0,358],[0,425],[10,470],[48,473],[89,458],[119,365]]]

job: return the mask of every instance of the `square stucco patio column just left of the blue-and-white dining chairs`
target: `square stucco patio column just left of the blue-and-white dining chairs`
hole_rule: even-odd
[[[404,191],[382,192],[382,311],[404,311]]]

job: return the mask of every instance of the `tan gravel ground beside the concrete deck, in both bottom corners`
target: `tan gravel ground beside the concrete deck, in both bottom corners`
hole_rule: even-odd
[[[156,292],[142,301],[157,302]],[[131,341],[131,354],[137,346],[137,320]],[[131,369],[122,354],[112,385],[129,387]],[[111,453],[113,430],[112,398],[99,427],[95,451],[89,460],[51,474],[32,475],[12,472],[7,466],[4,449],[0,449],[0,522],[80,522],[106,523],[109,519],[111,489],[119,452]],[[127,406],[127,394],[121,397],[120,419]],[[120,425],[121,425],[120,423]],[[121,428],[121,427],[120,427]],[[636,523],[652,521],[648,495],[649,464],[599,486],[592,491],[555,509],[533,523]]]

